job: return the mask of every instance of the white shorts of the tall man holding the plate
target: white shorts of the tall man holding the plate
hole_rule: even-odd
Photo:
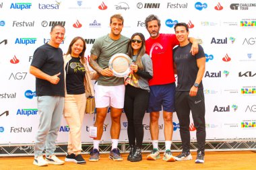
[[[123,109],[125,101],[125,85],[103,86],[94,85],[96,108],[106,108],[111,106],[117,109]]]

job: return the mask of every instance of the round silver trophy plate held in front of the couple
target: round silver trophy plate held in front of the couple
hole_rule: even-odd
[[[118,53],[111,56],[108,66],[116,77],[125,77],[131,72],[131,58],[127,54]]]

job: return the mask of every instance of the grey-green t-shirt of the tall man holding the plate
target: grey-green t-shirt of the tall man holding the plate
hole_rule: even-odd
[[[119,40],[112,40],[108,35],[102,36],[95,40],[91,54],[98,56],[96,62],[102,69],[106,69],[108,68],[108,62],[111,56],[117,53],[127,54],[128,42],[129,38],[122,35]],[[123,77],[106,77],[101,75],[98,78],[98,85],[116,86],[123,84]]]

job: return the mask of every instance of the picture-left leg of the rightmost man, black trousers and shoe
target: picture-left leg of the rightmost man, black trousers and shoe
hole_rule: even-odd
[[[181,142],[183,146],[182,153],[177,157],[175,157],[177,161],[192,159],[192,156],[190,154],[190,132],[189,132],[190,108],[189,108],[187,97],[189,97],[189,91],[176,91],[175,108],[177,111],[177,117],[179,119]]]

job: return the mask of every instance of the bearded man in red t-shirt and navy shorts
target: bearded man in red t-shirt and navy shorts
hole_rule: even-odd
[[[175,77],[173,71],[172,49],[179,45],[175,34],[160,34],[160,19],[156,15],[149,15],[145,20],[146,28],[150,38],[146,40],[146,53],[150,55],[153,63],[154,76],[150,79],[150,133],[153,144],[153,151],[148,155],[148,160],[160,159],[158,151],[158,119],[163,108],[164,138],[166,151],[164,161],[175,161],[170,151],[172,142],[172,113],[174,108]],[[191,52],[194,55],[198,51],[198,44],[194,38],[189,41],[193,43]]]

